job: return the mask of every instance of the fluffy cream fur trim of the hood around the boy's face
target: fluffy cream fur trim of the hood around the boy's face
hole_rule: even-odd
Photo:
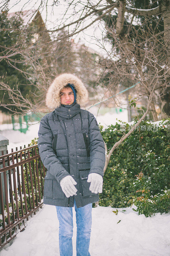
[[[72,74],[63,73],[59,76],[56,76],[53,83],[49,86],[46,94],[46,105],[48,108],[58,108],[60,104],[60,91],[67,84],[74,84],[76,93],[76,102],[84,107],[88,101],[88,91],[85,88],[82,81]]]

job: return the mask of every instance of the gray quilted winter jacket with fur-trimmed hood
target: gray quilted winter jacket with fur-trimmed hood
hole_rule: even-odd
[[[76,84],[71,78],[78,81],[73,75],[63,75],[69,75],[70,78],[64,80],[63,87],[68,83]],[[59,87],[56,80],[51,87]],[[76,85],[75,88],[79,97],[79,88]],[[49,97],[50,94],[47,95]],[[46,104],[49,102],[48,97]],[[77,101],[81,103],[81,97]],[[47,168],[44,204],[73,207],[75,198],[77,207],[81,207],[99,201],[99,194],[92,193],[89,190],[90,183],[87,182],[89,173],[96,172],[103,176],[105,165],[104,141],[95,117],[81,109],[78,103],[59,104],[54,111],[42,117],[38,136],[39,154]],[[76,195],[69,198],[60,186],[60,180],[67,175],[71,175],[77,182],[75,187],[78,190]]]

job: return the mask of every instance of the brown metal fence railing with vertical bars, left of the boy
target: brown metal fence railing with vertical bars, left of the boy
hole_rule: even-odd
[[[16,236],[17,230],[25,228],[28,216],[42,206],[46,172],[37,144],[16,148],[15,152],[11,149],[11,153],[5,151],[0,151],[0,249]]]

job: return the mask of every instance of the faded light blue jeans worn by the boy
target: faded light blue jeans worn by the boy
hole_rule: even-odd
[[[59,249],[60,256],[73,255],[73,207],[55,206],[59,220]],[[90,234],[92,227],[92,203],[77,208],[74,199],[76,211],[77,238],[76,252],[77,256],[91,256],[89,252]]]

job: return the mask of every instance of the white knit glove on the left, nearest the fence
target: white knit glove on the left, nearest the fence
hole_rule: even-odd
[[[74,186],[76,184],[77,182],[70,175],[67,175],[60,180],[60,186],[67,197],[76,194],[77,188]]]

